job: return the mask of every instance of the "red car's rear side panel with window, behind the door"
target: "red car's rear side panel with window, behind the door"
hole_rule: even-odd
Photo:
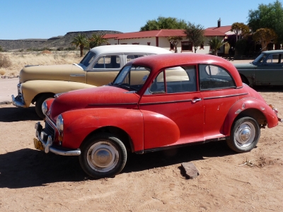
[[[242,95],[228,71],[219,66],[199,66],[200,90],[204,103],[204,139],[219,139],[226,136],[223,124],[232,105]]]

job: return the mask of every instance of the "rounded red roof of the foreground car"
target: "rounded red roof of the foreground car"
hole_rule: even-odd
[[[158,72],[159,70],[171,66],[183,66],[186,64],[214,64],[216,66],[221,66],[233,76],[236,86],[241,87],[243,83],[241,81],[241,76],[239,75],[237,69],[231,62],[210,54],[156,54],[146,57],[139,57],[127,64],[134,64],[139,66],[148,66],[151,68],[151,72]],[[155,75],[155,73],[154,73]]]

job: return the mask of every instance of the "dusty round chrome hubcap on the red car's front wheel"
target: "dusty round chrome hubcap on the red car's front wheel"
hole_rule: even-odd
[[[109,172],[118,163],[119,153],[115,146],[106,141],[94,143],[88,149],[88,165],[98,172]]]

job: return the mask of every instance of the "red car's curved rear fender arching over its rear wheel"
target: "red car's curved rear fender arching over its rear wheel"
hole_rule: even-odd
[[[266,121],[269,128],[277,126],[278,118],[275,112],[261,100],[255,98],[243,98],[236,102],[229,110],[224,121],[224,134],[229,135],[231,126],[236,117],[253,117],[260,124]]]

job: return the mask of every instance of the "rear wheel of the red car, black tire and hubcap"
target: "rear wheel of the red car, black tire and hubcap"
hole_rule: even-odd
[[[251,151],[258,144],[260,139],[260,126],[255,119],[243,117],[236,120],[231,127],[230,139],[227,139],[227,145],[237,153],[246,153]]]

